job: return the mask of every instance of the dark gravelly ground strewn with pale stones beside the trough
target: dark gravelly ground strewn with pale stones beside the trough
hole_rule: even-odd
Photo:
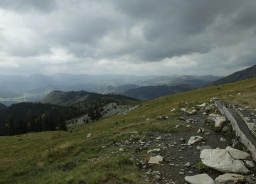
[[[225,117],[222,117],[215,110],[213,101],[210,101],[208,105],[199,104],[198,107],[192,107],[190,109],[181,108],[182,114],[178,119],[186,121],[187,127],[190,127],[190,131],[181,131],[172,134],[159,132],[148,137],[144,136],[139,141],[132,142],[132,139],[123,140],[114,143],[114,146],[117,146],[119,151],[123,154],[125,154],[126,148],[134,148],[138,156],[135,155],[134,158],[131,159],[136,159],[138,167],[145,173],[144,180],[150,183],[186,183],[186,180],[195,179],[186,176],[193,175],[199,177],[199,180],[202,180],[201,177],[205,180],[210,178],[210,183],[218,176],[220,176],[218,180],[223,180],[224,183],[225,180],[233,180],[232,177],[244,177],[243,175],[222,175],[223,173],[228,173],[228,171],[220,172],[218,167],[216,169],[207,163],[208,158],[203,160],[203,153],[206,153],[207,150],[215,153],[216,150],[220,148],[220,150],[217,150],[218,153],[221,152],[220,155],[225,153],[230,156],[230,152],[225,149],[227,146],[233,146],[235,148],[243,147],[239,141],[235,140],[238,138],[227,137],[226,133],[229,131],[228,122]],[[171,112],[174,111],[175,109],[171,110]],[[210,112],[215,112],[216,114]],[[159,121],[166,121],[165,119],[170,118],[174,117],[159,117]],[[208,121],[205,119],[208,119]],[[213,123],[210,123],[210,120]],[[136,135],[137,132],[133,132],[132,136]],[[147,158],[139,156],[139,153],[142,151],[147,152]],[[209,153],[206,153],[206,155],[209,155]],[[217,155],[217,157],[220,156]],[[225,168],[225,161],[230,161],[230,163],[242,163],[243,166],[241,167],[244,169],[244,172],[246,171],[246,177],[237,179],[237,181],[239,181],[238,183],[256,183],[253,175],[253,173],[255,173],[255,165],[253,162],[246,162],[247,164],[245,164],[245,158],[235,161],[235,158],[233,159],[231,156],[229,160],[225,158],[225,160],[219,161],[220,163],[224,163],[220,168]],[[204,163],[208,164],[208,166]],[[230,163],[227,162],[227,165],[230,165]],[[247,166],[249,164],[251,164],[250,167]],[[232,169],[232,164],[230,166],[231,168],[229,169]],[[242,171],[240,172],[240,169],[241,168],[238,168],[239,172],[234,171],[233,173],[241,173]],[[208,175],[198,175],[201,173],[207,173]],[[186,180],[184,180],[185,177]],[[204,183],[204,181],[202,183]]]

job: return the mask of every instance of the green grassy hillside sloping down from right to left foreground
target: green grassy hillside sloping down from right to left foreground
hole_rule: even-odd
[[[0,183],[144,183],[144,173],[130,158],[146,161],[146,151],[136,153],[125,147],[120,152],[113,143],[147,139],[154,131],[188,131],[170,110],[180,109],[185,100],[206,102],[212,97],[256,108],[256,79],[161,97],[128,114],[73,126],[67,132],[1,137]],[[158,121],[159,116],[171,118]],[[131,136],[133,131],[138,133]],[[89,133],[92,135],[87,138]]]

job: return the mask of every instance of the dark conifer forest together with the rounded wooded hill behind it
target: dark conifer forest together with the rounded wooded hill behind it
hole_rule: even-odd
[[[22,102],[10,107],[0,104],[0,136],[66,130],[67,120],[88,114],[90,120],[95,121],[102,117],[106,104],[126,105],[134,104],[134,101],[137,99],[122,95],[80,91],[51,92],[45,101],[51,104]]]

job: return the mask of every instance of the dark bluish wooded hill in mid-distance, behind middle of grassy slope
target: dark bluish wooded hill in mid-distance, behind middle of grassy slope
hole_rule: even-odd
[[[128,90],[127,92],[124,92],[124,94],[129,97],[134,97],[136,99],[149,100],[149,99],[155,99],[157,97],[163,97],[169,94],[186,92],[186,91],[195,90],[195,89],[196,87],[193,87],[190,85],[177,85],[177,86],[159,85],[159,86],[139,87],[137,89]]]

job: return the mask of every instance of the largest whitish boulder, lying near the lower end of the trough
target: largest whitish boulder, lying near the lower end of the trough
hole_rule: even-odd
[[[230,156],[227,149],[204,149],[200,158],[206,166],[223,173],[250,173],[242,161]]]

